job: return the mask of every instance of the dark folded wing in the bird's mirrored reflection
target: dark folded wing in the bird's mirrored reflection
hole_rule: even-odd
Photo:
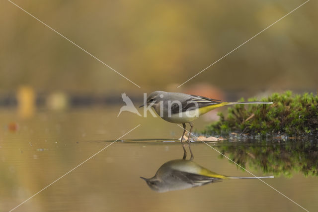
[[[181,172],[177,170],[171,172],[171,177],[175,178],[176,180],[192,184],[193,186],[202,186],[205,184],[216,183],[223,180],[221,178],[208,177],[188,172]]]

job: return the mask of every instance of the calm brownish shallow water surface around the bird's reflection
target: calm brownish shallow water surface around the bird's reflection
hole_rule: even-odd
[[[0,211],[15,208],[102,149],[14,211],[304,211],[291,200],[318,209],[315,140],[190,144],[197,165],[252,176],[220,151],[256,176],[274,175],[262,180],[291,200],[258,179],[157,193],[140,177],[151,178],[162,164],[182,159],[178,126],[129,113],[116,118],[117,108],[39,111],[30,119],[14,110],[0,114]],[[195,122],[201,129],[204,124]]]

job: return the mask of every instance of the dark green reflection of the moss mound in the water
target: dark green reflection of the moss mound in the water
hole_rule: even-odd
[[[264,174],[291,177],[293,173],[303,173],[305,176],[318,176],[317,142],[232,142],[218,149],[240,166],[261,170]]]

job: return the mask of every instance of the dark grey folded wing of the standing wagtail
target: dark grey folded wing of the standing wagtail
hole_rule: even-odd
[[[211,106],[211,105],[216,105],[216,104],[221,104],[221,100],[215,100],[215,99],[210,99],[207,97],[201,97],[201,96],[196,96],[196,95],[189,95],[189,99],[182,101],[181,106],[182,106],[182,112],[191,110],[191,109],[196,109],[204,106]],[[171,105],[171,113],[178,113],[179,112],[179,104],[172,104]]]

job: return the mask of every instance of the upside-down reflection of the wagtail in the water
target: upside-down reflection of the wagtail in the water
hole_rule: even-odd
[[[184,145],[184,144],[183,144]],[[189,144],[188,144],[189,145]],[[147,185],[156,192],[169,192],[176,190],[184,190],[210,183],[221,182],[226,179],[257,179],[257,178],[274,178],[266,177],[230,177],[212,172],[197,163],[193,162],[193,154],[190,149],[191,158],[186,160],[186,150],[183,147],[183,159],[170,160],[164,163],[152,178],[144,178]]]

